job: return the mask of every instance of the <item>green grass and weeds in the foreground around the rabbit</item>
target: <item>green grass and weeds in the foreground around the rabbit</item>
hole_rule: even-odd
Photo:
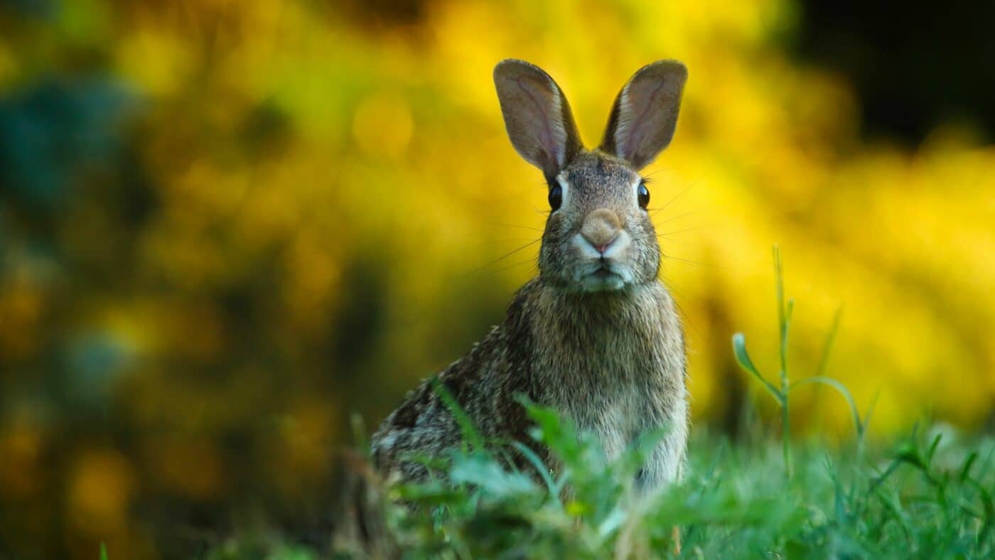
[[[411,558],[995,557],[995,441],[924,425],[890,446],[868,449],[870,412],[862,417],[846,388],[825,376],[838,320],[813,376],[791,381],[793,304],[784,297],[780,267],[775,249],[778,383],[753,365],[740,334],[733,352],[783,412],[781,437],[756,425],[733,444],[694,430],[684,481],[646,497],[632,481],[664,429],[608,461],[593,436],[555,411],[525,403],[535,422],[531,436],[563,466],[551,472],[521,444],[491,442],[485,451],[465,415],[454,411],[465,439],[478,445],[430,462],[437,477],[428,482],[389,487],[382,513],[387,529],[378,538]],[[789,437],[790,394],[806,383],[829,385],[844,397],[854,419],[852,441],[830,448]],[[505,467],[511,453],[525,454],[531,467]],[[349,545],[337,543],[341,555],[350,556]],[[252,553],[237,542],[226,546],[213,557],[316,557],[279,543]],[[355,552],[361,545],[355,546],[351,555],[361,557]]]

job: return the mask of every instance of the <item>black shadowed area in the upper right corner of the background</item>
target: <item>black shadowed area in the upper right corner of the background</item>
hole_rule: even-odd
[[[907,144],[936,125],[995,136],[995,2],[802,2],[795,50],[846,76],[862,131]]]

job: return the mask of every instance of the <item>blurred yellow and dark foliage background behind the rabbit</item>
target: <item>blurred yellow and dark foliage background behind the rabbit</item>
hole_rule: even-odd
[[[648,173],[700,422],[734,434],[745,414],[734,328],[777,354],[751,336],[776,324],[776,241],[803,302],[793,371],[843,303],[829,371],[862,408],[880,394],[872,432],[979,425],[995,148],[962,123],[915,151],[862,140],[846,81],[787,54],[797,18],[787,0],[0,2],[0,556],[168,555],[157,538],[207,547],[263,511],[320,527],[348,414],[375,426],[535,272],[537,244],[514,251],[545,193],[504,136],[505,57],[557,79],[589,143],[637,68],[691,69]],[[849,429],[825,393],[792,395],[796,433]]]

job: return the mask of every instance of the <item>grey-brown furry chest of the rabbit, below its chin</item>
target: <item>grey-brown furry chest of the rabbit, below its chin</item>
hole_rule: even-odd
[[[610,303],[610,304],[607,304]],[[542,404],[596,433],[616,457],[643,432],[687,422],[685,352],[661,285],[605,305],[543,305],[531,374]]]

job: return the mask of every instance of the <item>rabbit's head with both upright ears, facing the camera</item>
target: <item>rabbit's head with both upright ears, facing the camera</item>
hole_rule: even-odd
[[[677,61],[644,67],[612,105],[601,145],[586,150],[566,97],[523,61],[495,68],[495,85],[515,150],[545,174],[550,213],[539,272],[568,291],[610,291],[653,282],[660,246],[639,170],[674,136],[688,70]]]

